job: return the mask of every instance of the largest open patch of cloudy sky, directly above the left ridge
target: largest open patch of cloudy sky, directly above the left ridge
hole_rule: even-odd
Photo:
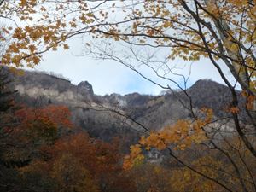
[[[89,56],[75,56],[71,52],[59,50],[44,55],[44,61],[36,70],[62,74],[73,84],[87,80],[98,95],[128,94],[142,92],[156,94],[145,79],[139,77],[127,67],[114,61],[96,61]],[[155,88],[154,88],[155,89]]]

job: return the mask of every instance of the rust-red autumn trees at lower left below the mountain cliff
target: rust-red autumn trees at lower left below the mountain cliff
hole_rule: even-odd
[[[6,176],[0,189],[135,190],[131,178],[123,174],[119,139],[104,143],[89,137],[71,123],[67,107],[23,107],[13,115],[15,125],[5,127],[9,136],[1,138],[0,169]]]

